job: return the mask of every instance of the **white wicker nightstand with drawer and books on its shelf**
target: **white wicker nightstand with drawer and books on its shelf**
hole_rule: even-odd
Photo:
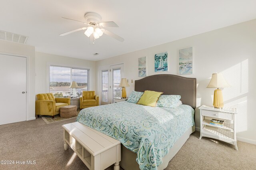
[[[238,150],[236,144],[236,109],[216,109],[211,106],[202,105],[200,109],[200,138],[203,136],[214,138],[233,144]],[[211,125],[211,119],[224,121],[223,127]]]

